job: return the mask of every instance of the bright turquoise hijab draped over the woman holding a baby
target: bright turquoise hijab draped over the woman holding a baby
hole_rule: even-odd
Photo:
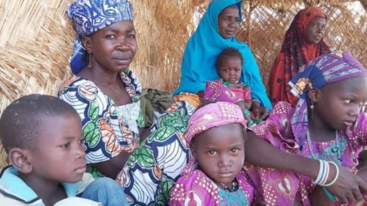
[[[219,53],[228,47],[237,48],[244,59],[241,81],[251,87],[251,96],[260,100],[261,104],[272,110],[266,94],[264,83],[260,76],[259,66],[249,46],[236,40],[235,36],[224,39],[218,32],[218,16],[225,8],[237,5],[242,16],[240,0],[213,0],[200,21],[200,24],[190,38],[181,63],[180,85],[173,92],[197,93],[204,91],[206,81],[218,79],[215,60]]]

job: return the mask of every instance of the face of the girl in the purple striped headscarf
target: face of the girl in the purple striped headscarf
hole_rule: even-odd
[[[367,77],[355,77],[312,90],[315,115],[334,130],[344,130],[357,120],[367,100]]]

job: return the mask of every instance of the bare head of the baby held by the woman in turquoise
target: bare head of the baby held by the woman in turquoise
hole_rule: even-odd
[[[215,61],[218,75],[232,84],[237,83],[241,77],[243,57],[238,49],[229,47],[224,49]]]

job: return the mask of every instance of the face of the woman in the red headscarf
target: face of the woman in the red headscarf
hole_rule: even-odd
[[[323,17],[316,17],[307,26],[306,35],[310,43],[318,44],[324,37],[326,27],[326,19]]]

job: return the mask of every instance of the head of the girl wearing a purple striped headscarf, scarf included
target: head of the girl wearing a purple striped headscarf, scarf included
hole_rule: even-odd
[[[305,64],[290,81],[291,92],[300,97],[298,120],[307,113],[334,130],[356,122],[367,100],[367,71],[350,53],[322,55]],[[300,128],[300,127],[298,127]]]

